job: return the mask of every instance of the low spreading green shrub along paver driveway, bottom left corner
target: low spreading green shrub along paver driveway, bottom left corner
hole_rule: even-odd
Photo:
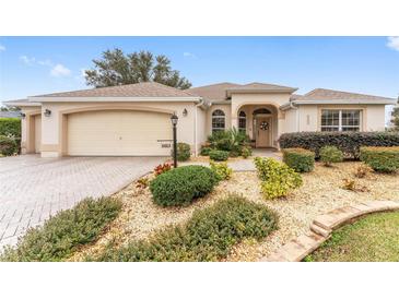
[[[15,248],[7,247],[0,261],[50,262],[71,256],[79,247],[94,241],[121,210],[113,198],[85,199],[59,212],[42,227],[31,228]]]

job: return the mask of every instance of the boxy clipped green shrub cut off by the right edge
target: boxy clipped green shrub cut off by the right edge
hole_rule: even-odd
[[[376,171],[395,172],[399,170],[399,146],[361,147],[361,160]]]

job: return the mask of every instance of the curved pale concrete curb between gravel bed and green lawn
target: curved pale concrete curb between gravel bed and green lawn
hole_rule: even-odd
[[[301,262],[330,238],[333,229],[366,214],[399,210],[392,201],[371,201],[332,210],[317,216],[310,224],[310,231],[300,236],[259,262]]]

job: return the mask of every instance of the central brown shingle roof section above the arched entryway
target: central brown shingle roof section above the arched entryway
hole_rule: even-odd
[[[235,92],[235,91],[286,91],[294,92],[296,88],[275,85],[275,84],[267,84],[267,83],[249,83],[249,84],[235,84],[235,83],[218,83],[212,85],[199,86],[188,89],[190,93],[197,94],[203,98],[208,99],[225,99],[226,92]]]

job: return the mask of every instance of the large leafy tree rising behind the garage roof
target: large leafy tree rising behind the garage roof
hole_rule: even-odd
[[[85,71],[87,85],[95,87],[117,86],[140,82],[157,82],[186,89],[191,83],[176,70],[163,55],[149,51],[125,55],[120,49],[106,50],[102,59],[94,59],[94,69]]]

